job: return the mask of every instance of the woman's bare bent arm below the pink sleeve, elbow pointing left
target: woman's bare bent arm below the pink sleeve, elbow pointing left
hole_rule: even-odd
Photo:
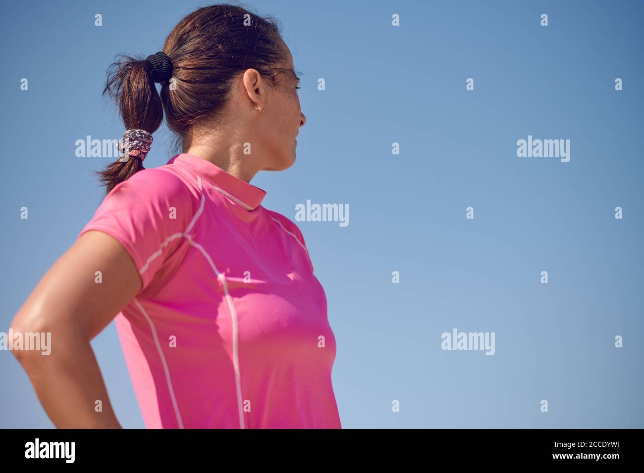
[[[102,283],[95,273],[102,272]],[[121,426],[90,340],[137,295],[141,279],[125,248],[113,237],[83,234],[39,281],[16,313],[16,332],[51,335],[51,353],[14,350],[48,416],[59,429]],[[96,401],[102,412],[95,411]]]

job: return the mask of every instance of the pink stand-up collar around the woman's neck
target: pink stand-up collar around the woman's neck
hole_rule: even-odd
[[[236,178],[229,172],[223,171],[220,167],[204,158],[194,156],[194,154],[177,154],[167,162],[167,164],[172,163],[193,171],[194,174],[213,185],[216,190],[219,190],[225,196],[232,198],[245,210],[257,209],[266,195],[265,190]]]

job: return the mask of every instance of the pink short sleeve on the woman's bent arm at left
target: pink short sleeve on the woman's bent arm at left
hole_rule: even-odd
[[[143,169],[109,192],[77,238],[89,230],[115,237],[136,264],[143,292],[182,243],[195,201],[187,183],[173,172]]]

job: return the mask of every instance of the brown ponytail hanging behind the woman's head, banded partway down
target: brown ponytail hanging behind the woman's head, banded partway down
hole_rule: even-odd
[[[163,82],[167,83],[171,77],[172,67],[169,59],[162,64],[160,55],[163,53],[156,53],[146,60],[123,56],[108,68],[103,95],[109,95],[118,104],[126,130],[139,129],[152,134],[161,125],[163,106],[156,91],[155,80],[166,86]],[[145,154],[142,158],[145,158]],[[118,183],[145,169],[142,158],[126,154],[110,163],[103,171],[98,171],[99,181],[106,187],[106,194]]]

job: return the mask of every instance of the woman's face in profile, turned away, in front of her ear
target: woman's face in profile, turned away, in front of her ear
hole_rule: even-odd
[[[289,48],[284,45],[285,60],[278,65],[289,71],[276,77],[276,86],[269,87],[269,96],[263,104],[261,113],[262,151],[266,151],[265,171],[281,171],[292,166],[295,162],[296,136],[299,127],[307,122],[307,118],[299,107],[297,86],[299,79],[293,65],[293,57]]]

